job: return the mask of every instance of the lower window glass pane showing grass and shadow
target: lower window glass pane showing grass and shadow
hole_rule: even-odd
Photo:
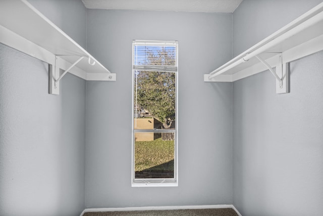
[[[174,178],[174,135],[134,133],[135,179]]]

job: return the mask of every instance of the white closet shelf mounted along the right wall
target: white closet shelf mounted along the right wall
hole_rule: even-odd
[[[283,64],[285,64],[320,50],[323,50],[323,3],[210,74],[205,74],[204,81],[234,82],[267,70],[256,58],[253,58],[255,53],[269,65],[276,67],[280,53],[282,53]],[[211,75],[213,77],[209,79]]]

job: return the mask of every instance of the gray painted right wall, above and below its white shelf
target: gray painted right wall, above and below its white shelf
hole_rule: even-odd
[[[320,2],[244,0],[235,55]],[[283,95],[268,71],[234,82],[233,203],[242,215],[321,215],[322,68],[323,52],[292,62]]]

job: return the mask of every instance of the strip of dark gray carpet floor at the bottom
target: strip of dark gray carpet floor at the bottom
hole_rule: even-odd
[[[146,210],[146,211],[104,211],[86,212],[83,216],[238,216],[232,208]]]

